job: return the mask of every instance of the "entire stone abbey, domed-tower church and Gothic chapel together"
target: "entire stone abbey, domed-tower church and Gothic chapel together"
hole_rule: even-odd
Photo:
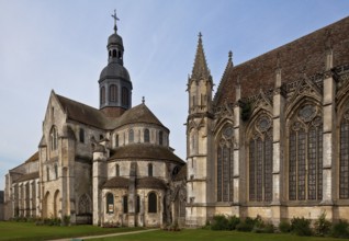
[[[187,162],[145,102],[132,106],[114,18],[99,108],[52,92],[38,151],[5,176],[7,218],[131,227],[198,227],[214,215],[349,219],[349,18],[237,66],[229,51],[215,92],[200,34]]]

